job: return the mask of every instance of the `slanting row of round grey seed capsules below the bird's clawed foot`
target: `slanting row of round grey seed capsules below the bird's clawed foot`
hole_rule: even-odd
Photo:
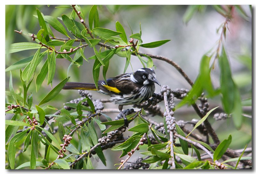
[[[115,131],[108,132],[107,136],[104,136],[102,138],[98,139],[98,142],[101,143],[101,145],[106,145],[110,142],[112,142],[114,139],[122,138],[123,132],[126,130],[125,126],[122,126]]]

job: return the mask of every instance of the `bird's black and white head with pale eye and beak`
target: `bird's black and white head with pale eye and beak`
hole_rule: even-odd
[[[156,80],[155,71],[151,68],[140,68],[134,72],[130,78],[132,82],[139,83],[141,85],[156,83],[161,86],[160,83]]]

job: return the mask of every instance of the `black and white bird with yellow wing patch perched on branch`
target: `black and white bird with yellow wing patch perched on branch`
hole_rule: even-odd
[[[63,89],[94,90],[111,97],[111,101],[118,104],[118,109],[124,117],[125,126],[128,127],[127,118],[123,114],[123,105],[139,104],[151,98],[155,91],[155,71],[151,68],[140,68],[134,73],[117,75],[98,81],[98,89],[94,83],[68,82]],[[157,95],[157,94],[156,94]]]

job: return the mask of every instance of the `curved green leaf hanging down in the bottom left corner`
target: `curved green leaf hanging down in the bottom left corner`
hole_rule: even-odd
[[[26,133],[27,131],[22,131],[20,133],[17,133],[14,137],[12,137],[11,141],[9,142],[9,146],[7,150],[7,159],[11,169],[14,169],[14,165],[15,165],[16,148],[14,143],[20,141],[25,136]]]

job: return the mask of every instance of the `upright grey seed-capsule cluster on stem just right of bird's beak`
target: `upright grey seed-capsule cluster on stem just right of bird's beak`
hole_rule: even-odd
[[[164,95],[164,93],[166,92],[167,94],[167,101],[168,101],[168,109],[169,109],[169,115],[167,114],[167,112],[165,111],[164,112],[164,117],[165,117],[165,122],[166,122],[166,128],[167,128],[167,132],[170,133],[170,131],[173,132],[173,134],[175,133],[175,117],[173,116],[174,115],[174,112],[173,112],[173,109],[175,108],[175,103],[174,103],[174,95],[171,93],[171,88],[169,86],[166,86],[166,85],[163,85],[162,88],[161,88],[161,94]],[[160,123],[161,124],[161,123]],[[161,129],[163,130],[163,133],[165,132],[164,131],[164,128],[163,127],[163,123],[159,126]],[[173,137],[173,143],[175,143],[175,136]]]

